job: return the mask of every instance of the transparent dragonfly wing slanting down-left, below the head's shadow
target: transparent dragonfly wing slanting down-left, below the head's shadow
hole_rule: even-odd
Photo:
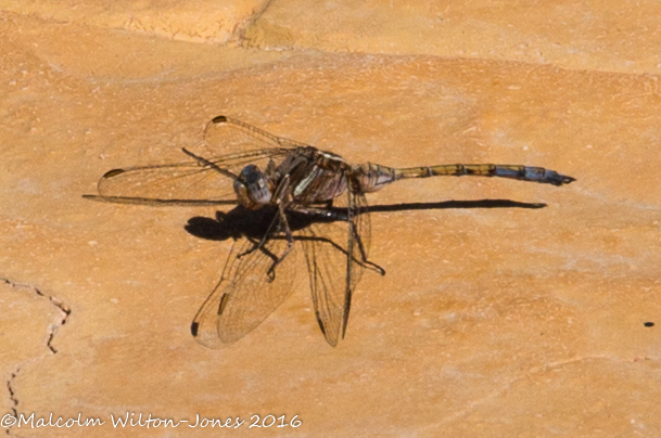
[[[296,248],[276,267],[272,263],[287,249],[287,240],[275,236],[259,249],[244,239],[232,247],[220,282],[204,302],[191,331],[195,339],[211,348],[239,340],[256,328],[292,293]],[[251,249],[254,249],[251,252]]]

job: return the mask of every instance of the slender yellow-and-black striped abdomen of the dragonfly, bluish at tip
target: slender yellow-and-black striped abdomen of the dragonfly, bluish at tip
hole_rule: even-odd
[[[374,192],[391,182],[406,178],[429,178],[441,176],[460,177],[462,175],[476,177],[511,178],[521,181],[534,181],[544,184],[562,185],[574,181],[555,170],[543,167],[521,165],[440,165],[429,167],[410,167],[394,169],[392,167],[366,163],[354,166],[353,173],[364,192]]]

